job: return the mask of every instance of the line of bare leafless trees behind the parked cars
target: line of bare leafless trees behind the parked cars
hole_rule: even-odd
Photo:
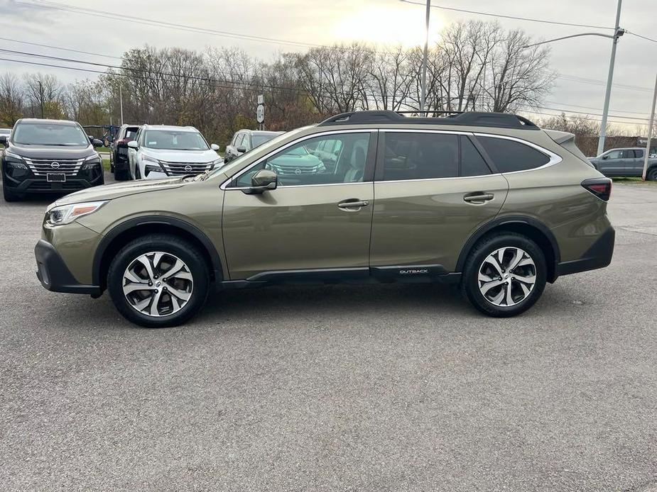
[[[428,50],[425,108],[430,111],[518,111],[541,104],[553,86],[547,47],[524,47],[522,30],[497,23],[453,23]],[[264,94],[266,128],[289,130],[359,109],[417,111],[420,47],[364,43],[281,52],[262,61],[235,47],[202,52],[139,47],[96,80],[62,84],[50,74],[0,76],[0,122],[22,116],[70,118],[83,125],[124,121],[194,125],[225,144],[255,128]]]

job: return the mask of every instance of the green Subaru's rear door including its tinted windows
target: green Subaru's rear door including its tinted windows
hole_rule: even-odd
[[[472,134],[381,130],[374,181],[373,274],[452,272],[467,237],[499,212],[508,184]],[[425,272],[425,270],[427,272]]]

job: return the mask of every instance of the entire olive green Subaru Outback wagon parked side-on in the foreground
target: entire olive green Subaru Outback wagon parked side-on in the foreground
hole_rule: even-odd
[[[611,187],[572,134],[520,116],[357,111],[206,174],[65,196],[45,213],[37,275],[107,290],[148,327],[184,323],[212,287],[284,283],[459,284],[510,316],[546,282],[609,264]]]

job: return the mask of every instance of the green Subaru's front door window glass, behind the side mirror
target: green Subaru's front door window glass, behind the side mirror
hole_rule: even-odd
[[[308,138],[259,162],[232,186],[251,186],[251,177],[261,169],[278,174],[278,186],[358,183],[365,179],[369,132],[332,134]],[[340,142],[338,155],[325,157],[317,148],[325,140]],[[334,144],[335,145],[335,144]]]

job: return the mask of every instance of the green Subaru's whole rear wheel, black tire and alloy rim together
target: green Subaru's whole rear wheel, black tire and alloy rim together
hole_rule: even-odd
[[[516,233],[497,233],[470,253],[462,291],[479,311],[501,318],[531,308],[546,279],[545,255],[536,242]]]

